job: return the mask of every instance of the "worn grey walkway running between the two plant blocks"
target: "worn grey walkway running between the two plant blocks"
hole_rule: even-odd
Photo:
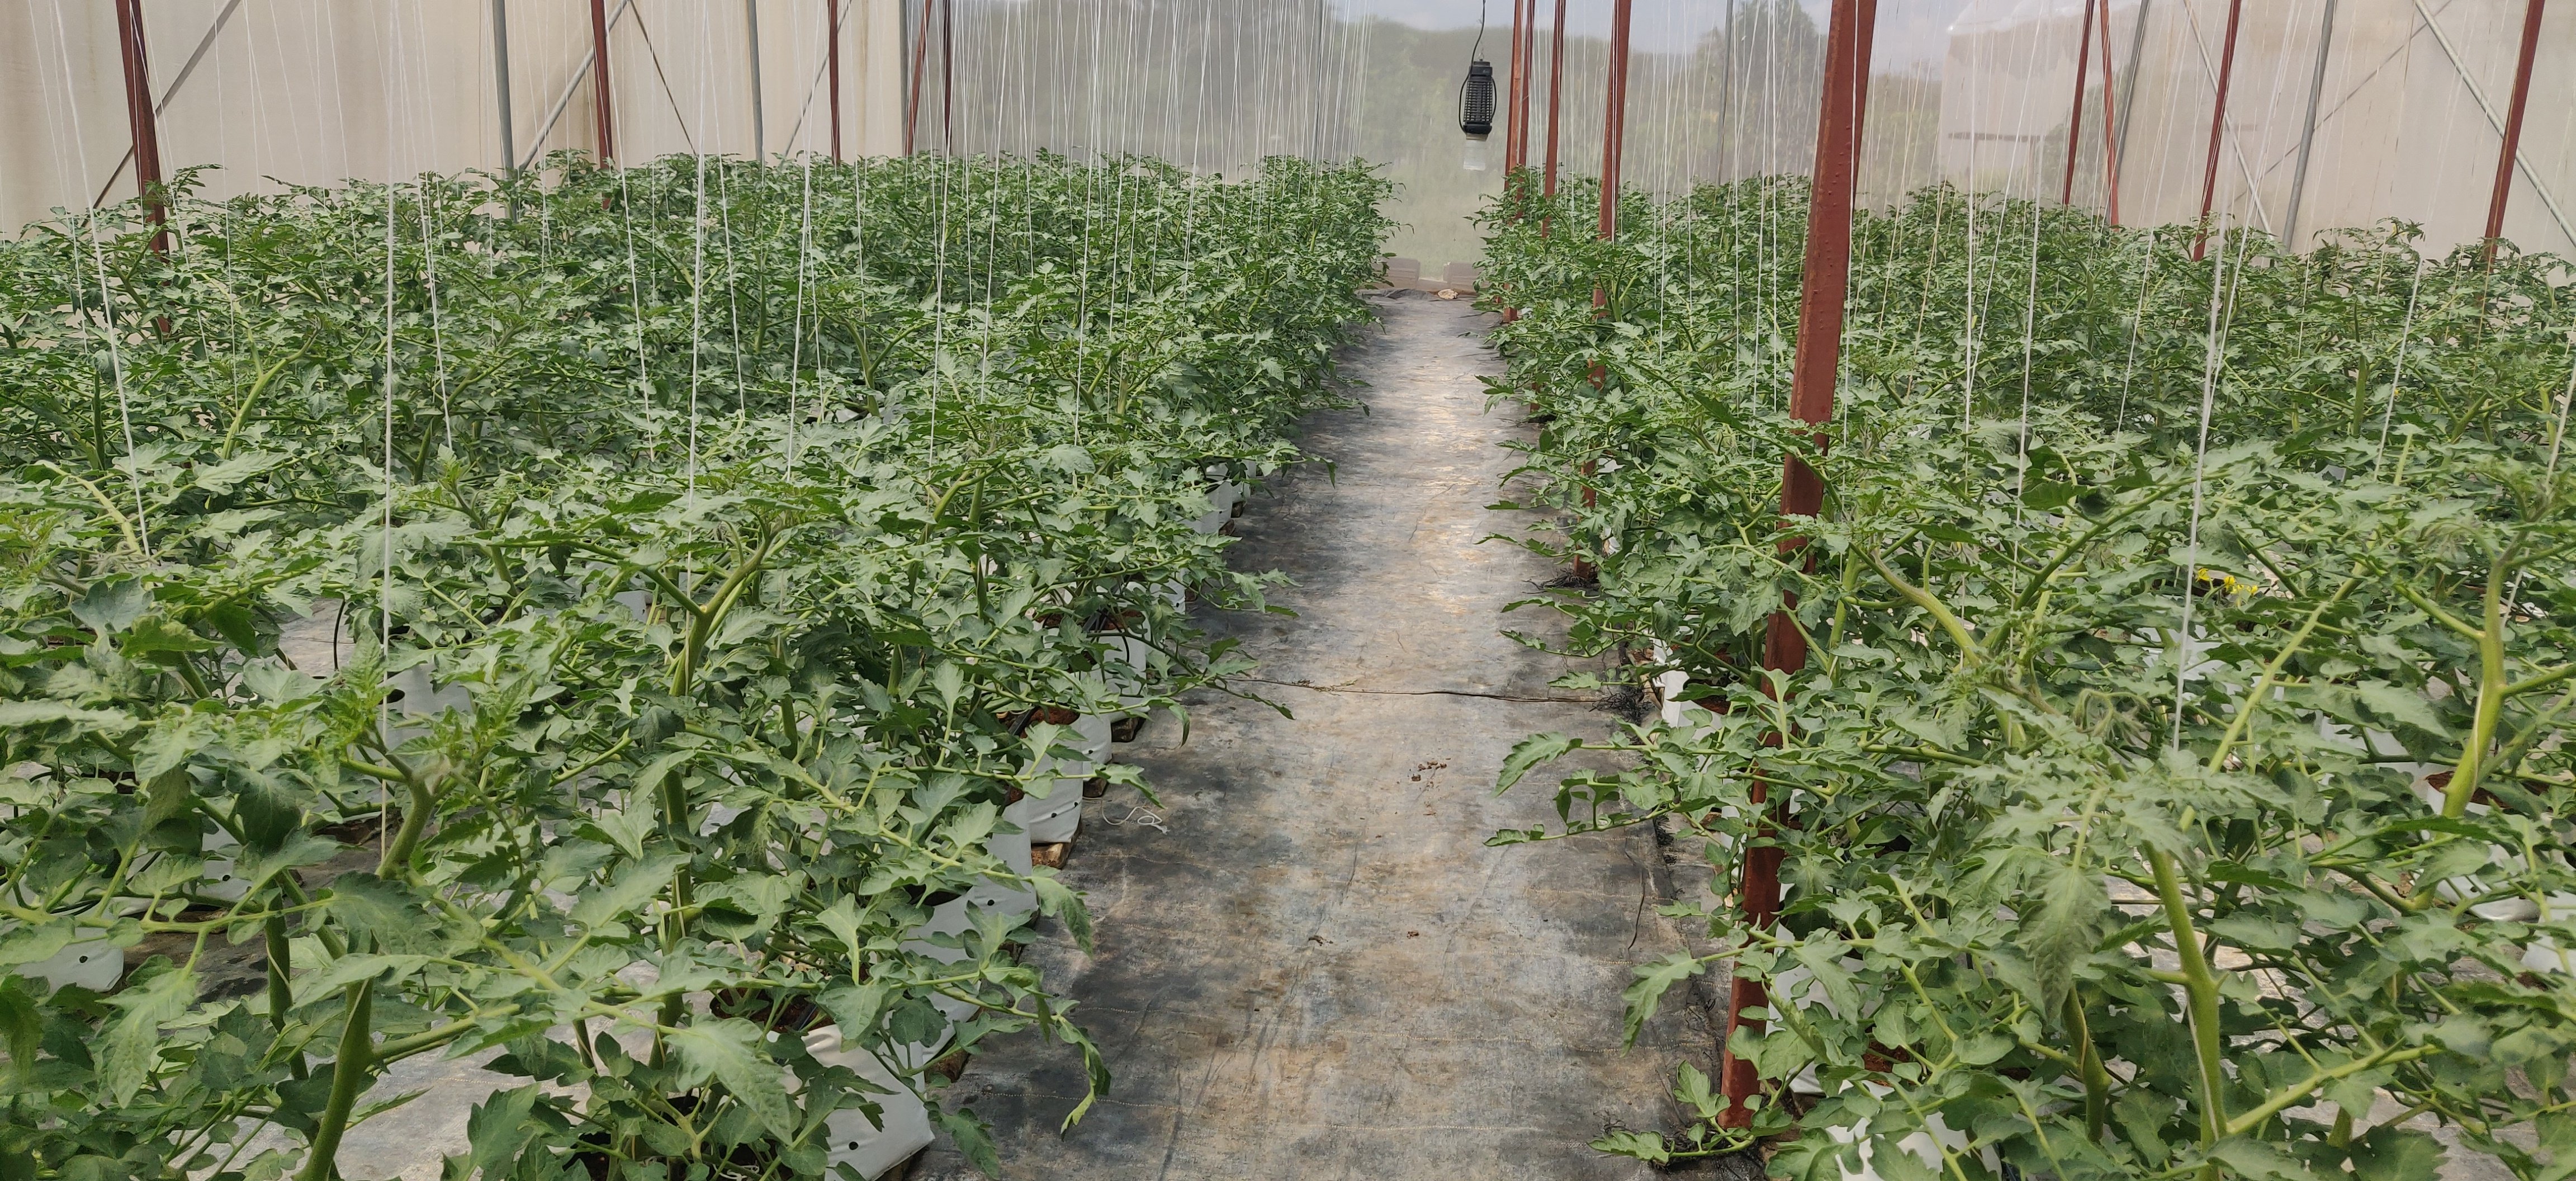
[[[1347,358],[1368,413],[1327,413],[1306,467],[1239,521],[1239,570],[1283,570],[1288,616],[1211,619],[1296,717],[1208,694],[1118,758],[1164,799],[1095,799],[1066,879],[1097,941],[1030,949],[1108,1055],[1115,1086],[1069,1135],[1079,1062],[1012,1037],[951,1104],[994,1124],[1005,1178],[1646,1178],[1584,1147],[1605,1124],[1669,1129],[1664,1088],[1713,1039],[1674,990],[1620,1047],[1628,967],[1680,946],[1654,913],[1656,846],[1631,830],[1484,848],[1553,820],[1546,784],[1494,799],[1528,732],[1600,735],[1551,688],[1564,663],[1497,629],[1556,575],[1479,544],[1528,431],[1484,413],[1499,361],[1466,302],[1383,302]],[[1540,614],[1517,627],[1548,627]],[[1118,823],[1126,820],[1126,823]],[[948,1145],[912,1178],[976,1176]]]

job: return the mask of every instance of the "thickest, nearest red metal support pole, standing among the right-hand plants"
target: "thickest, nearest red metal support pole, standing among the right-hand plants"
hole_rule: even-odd
[[[1788,413],[1801,423],[1824,425],[1834,418],[1834,374],[1842,366],[1842,312],[1852,278],[1852,188],[1860,170],[1860,103],[1870,77],[1870,26],[1878,18],[1873,0],[1834,0],[1834,15],[1824,41],[1824,111],[1816,121],[1816,183],[1806,211],[1806,273],[1798,289],[1798,361],[1790,369]],[[1816,433],[1824,449],[1824,433]],[[1795,451],[1780,462],[1780,516],[1816,516],[1824,505],[1824,480]],[[1780,552],[1806,549],[1803,539],[1783,539]],[[1762,637],[1762,668],[1798,673],[1806,668],[1806,637],[1790,619],[1795,598],[1770,616]],[[1767,786],[1754,779],[1754,805],[1767,805]],[[1762,828],[1772,828],[1765,820]],[[1754,846],[1744,851],[1744,890],[1739,905],[1747,926],[1770,926],[1780,918],[1780,848]],[[1734,1031],[1757,1034],[1762,1021],[1747,1019],[1747,1008],[1765,1008],[1767,990],[1759,980],[1734,977],[1726,1013],[1728,1049],[1718,1060],[1718,1078],[1726,1093],[1723,1127],[1752,1124],[1752,1096],[1762,1088],[1762,1075],[1752,1062],[1734,1055]]]

